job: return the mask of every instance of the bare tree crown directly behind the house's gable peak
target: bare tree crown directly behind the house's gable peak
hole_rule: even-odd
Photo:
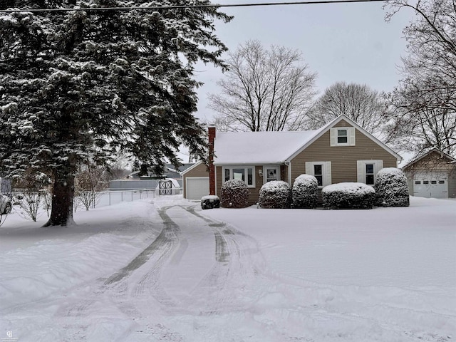
[[[346,115],[369,133],[381,138],[389,120],[383,95],[366,84],[337,82],[327,88],[308,113],[309,128],[320,128],[339,115]]]

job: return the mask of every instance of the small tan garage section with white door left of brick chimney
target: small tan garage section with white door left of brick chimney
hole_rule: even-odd
[[[186,199],[201,199],[209,195],[209,171],[204,162],[197,162],[192,167],[181,172],[183,197]]]

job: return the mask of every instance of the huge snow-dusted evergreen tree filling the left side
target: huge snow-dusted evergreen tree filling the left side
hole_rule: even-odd
[[[208,0],[6,0],[0,9],[209,4]],[[0,170],[53,180],[46,225],[73,222],[78,163],[130,152],[160,170],[183,143],[204,157],[197,61],[226,68],[216,8],[0,14]]]

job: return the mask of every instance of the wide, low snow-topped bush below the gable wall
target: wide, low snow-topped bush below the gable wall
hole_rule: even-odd
[[[364,183],[338,183],[323,187],[323,207],[326,209],[372,209],[375,190]]]

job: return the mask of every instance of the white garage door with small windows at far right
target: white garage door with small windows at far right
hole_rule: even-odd
[[[440,172],[423,172],[413,178],[413,195],[419,197],[448,198],[448,175]]]

